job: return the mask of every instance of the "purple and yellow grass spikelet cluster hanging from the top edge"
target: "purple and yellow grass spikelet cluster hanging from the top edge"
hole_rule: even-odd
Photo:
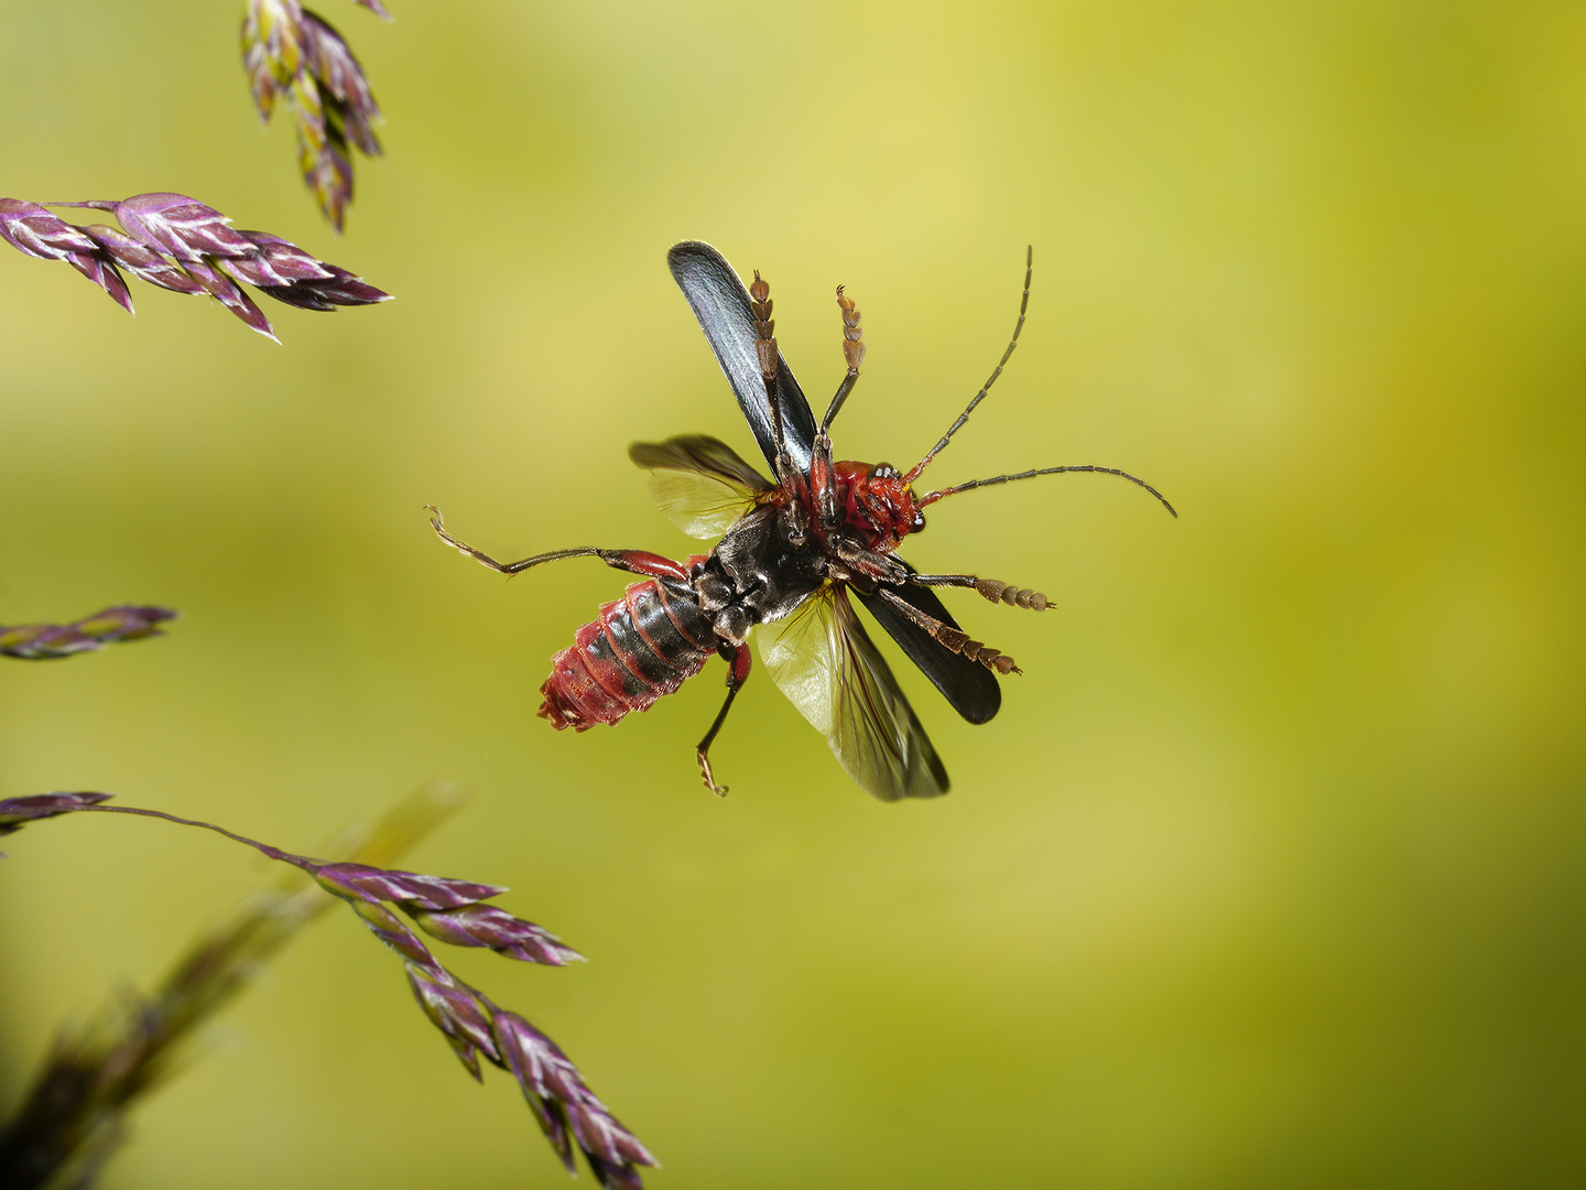
[[[355,0],[390,19],[379,0]],[[298,167],[319,209],[339,232],[352,202],[349,143],[381,155],[379,105],[352,49],[325,17],[298,0],[247,0],[243,70],[265,122],[285,97],[298,138]]]

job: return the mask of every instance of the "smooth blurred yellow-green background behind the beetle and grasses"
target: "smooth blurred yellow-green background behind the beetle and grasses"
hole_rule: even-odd
[[[0,192],[174,189],[396,294],[128,319],[0,251],[0,622],[176,606],[0,666],[0,797],[111,790],[295,850],[425,779],[409,855],[592,962],[463,955],[655,1150],[655,1187],[1586,1180],[1580,487],[1586,10],[1486,3],[320,0],[389,157],[336,240],[260,132],[239,3],[11,5]],[[584,736],[533,717],[684,554],[638,438],[753,443],[665,268],[774,286],[845,457],[915,460],[1029,324],[909,557],[1023,678],[955,779],[879,804],[757,673]],[[0,865],[0,1106],[265,865],[82,817]],[[108,1190],[558,1187],[398,965],[319,922],[136,1115]],[[587,1179],[587,1174],[585,1174]]]

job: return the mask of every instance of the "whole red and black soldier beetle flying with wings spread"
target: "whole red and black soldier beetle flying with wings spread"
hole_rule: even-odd
[[[1025,260],[1025,294],[1012,341],[990,379],[940,441],[909,471],[888,463],[837,462],[831,422],[842,409],[864,360],[855,303],[837,289],[847,374],[815,425],[804,393],[777,351],[771,287],[755,273],[742,281],[720,252],[703,243],[674,244],[672,278],[693,308],[761,454],[766,479],[725,443],[682,435],[634,443],[628,457],[650,471],[650,490],[679,528],[717,539],[709,554],[684,562],[634,549],[577,546],[496,562],[458,541],[433,506],[431,525],[450,546],[503,574],[546,562],[598,557],[642,576],[623,598],[604,605],[552,662],[541,685],[539,716],[557,730],[584,731],[647,711],[718,654],[728,663],[726,701],[695,749],[704,784],[715,793],[709,750],[739,689],[749,678],[747,636],[760,627],[760,655],[774,681],[822,731],[837,760],[877,798],[945,793],[947,770],[898,681],[860,622],[849,593],[869,609],[958,714],[988,722],[1001,706],[999,674],[1018,673],[1013,658],[971,639],[936,597],[936,587],[972,587],[993,603],[1044,611],[1047,598],[975,574],[921,574],[898,557],[898,546],[925,528],[923,509],[977,487],[1061,471],[1101,471],[1139,484],[1175,517],[1155,487],[1113,466],[1044,466],[915,495],[914,482],[964,425],[1002,374],[1018,344],[1029,305],[1032,255]]]

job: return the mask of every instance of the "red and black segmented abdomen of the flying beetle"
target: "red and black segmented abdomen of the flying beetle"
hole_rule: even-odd
[[[691,595],[646,579],[604,605],[552,658],[539,717],[558,731],[617,724],[699,673],[715,654],[715,633]]]

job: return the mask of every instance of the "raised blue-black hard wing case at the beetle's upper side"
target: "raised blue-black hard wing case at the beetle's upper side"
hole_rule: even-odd
[[[755,357],[755,319],[749,313],[749,290],[737,273],[711,244],[696,240],[672,244],[666,254],[677,287],[688,298],[699,328],[711,343],[726,382],[737,395],[737,406],[755,432],[760,452],[776,470],[777,446],[771,425],[771,398]],[[782,433],[793,465],[809,474],[810,449],[815,443],[815,416],[804,392],[793,379],[787,360],[777,355],[777,393],[782,401]]]

